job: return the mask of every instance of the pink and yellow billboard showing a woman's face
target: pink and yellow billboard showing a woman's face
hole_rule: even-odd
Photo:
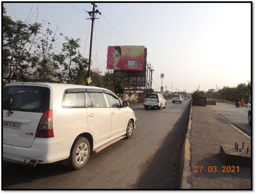
[[[107,69],[143,70],[144,46],[108,46]]]

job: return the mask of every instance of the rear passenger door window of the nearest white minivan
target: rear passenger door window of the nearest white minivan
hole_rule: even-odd
[[[106,102],[105,98],[103,96],[103,93],[101,92],[89,92],[87,93],[87,96],[90,97],[91,104],[93,108],[106,108]],[[88,99],[88,98],[87,98]],[[91,107],[90,100],[87,100],[87,106]]]

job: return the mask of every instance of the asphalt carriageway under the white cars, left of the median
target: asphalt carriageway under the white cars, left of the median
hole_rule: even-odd
[[[122,139],[73,171],[59,162],[28,167],[3,162],[4,189],[122,189],[179,188],[180,154],[186,134],[191,100],[167,108],[133,107],[137,126],[130,139]]]

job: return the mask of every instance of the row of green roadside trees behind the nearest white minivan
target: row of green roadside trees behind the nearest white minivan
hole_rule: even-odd
[[[87,85],[88,59],[79,53],[80,38],[65,37],[61,53],[55,53],[57,40],[63,35],[50,29],[50,23],[13,21],[3,6],[3,74],[22,82],[52,82]],[[107,88],[122,97],[122,73],[100,69],[90,72],[92,86]]]

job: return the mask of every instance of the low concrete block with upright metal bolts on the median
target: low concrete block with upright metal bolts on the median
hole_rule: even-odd
[[[248,153],[247,147],[249,147]],[[238,151],[236,151],[235,144],[221,144],[220,154],[224,164],[248,167],[251,165],[251,148],[248,145],[244,145],[244,149],[242,149],[242,144],[238,145]]]

